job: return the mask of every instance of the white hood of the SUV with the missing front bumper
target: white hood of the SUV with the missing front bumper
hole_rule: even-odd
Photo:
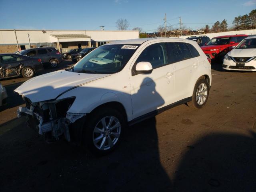
[[[55,99],[76,86],[106,76],[110,74],[87,74],[60,70],[34,77],[24,82],[14,92],[29,98],[31,102],[46,101]]]

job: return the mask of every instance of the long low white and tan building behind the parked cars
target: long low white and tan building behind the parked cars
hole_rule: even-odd
[[[43,46],[66,52],[72,48],[98,47],[112,41],[139,37],[139,31],[0,29],[0,53]]]

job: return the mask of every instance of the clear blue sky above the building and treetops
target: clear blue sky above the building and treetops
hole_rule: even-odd
[[[256,0],[0,0],[0,29],[116,30],[116,20],[129,21],[153,32],[163,24],[182,23],[188,28],[212,26],[256,9]],[[178,28],[178,25],[174,27]]]

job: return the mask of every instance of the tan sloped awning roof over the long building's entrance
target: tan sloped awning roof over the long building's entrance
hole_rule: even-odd
[[[90,41],[91,37],[85,34],[51,34],[51,42]]]

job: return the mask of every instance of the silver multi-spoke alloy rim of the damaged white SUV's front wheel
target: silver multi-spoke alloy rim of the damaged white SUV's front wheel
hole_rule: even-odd
[[[121,124],[118,118],[106,116],[95,126],[92,139],[99,150],[108,150],[118,141],[121,134]]]

